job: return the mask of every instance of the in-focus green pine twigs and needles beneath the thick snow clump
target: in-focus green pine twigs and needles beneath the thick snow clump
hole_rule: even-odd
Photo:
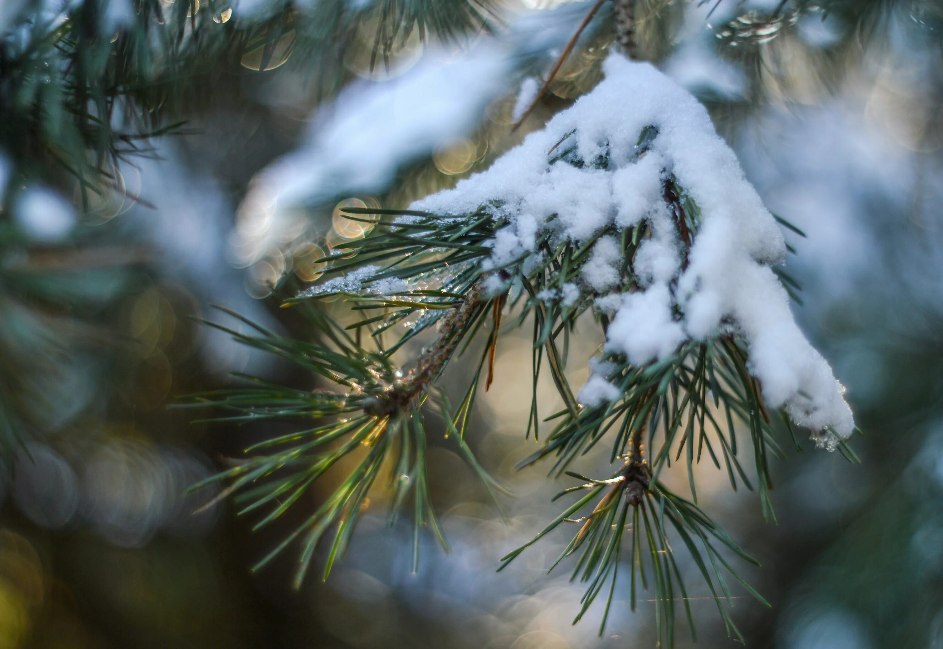
[[[650,136],[642,136],[639,139],[640,145],[643,145],[648,137]],[[570,164],[583,163],[572,156],[573,151],[567,149],[558,154],[556,159],[566,160],[565,163]],[[601,165],[604,163],[604,160],[597,162]],[[670,191],[665,191],[665,200],[676,208],[674,214],[679,231],[683,228],[689,228],[691,232],[696,231],[699,212],[690,198],[670,185]],[[612,363],[614,367],[607,378],[619,386],[623,396],[603,407],[587,408],[579,405],[573,396],[559,361],[555,341],[563,331],[572,326],[580,313],[590,307],[591,301],[587,299],[589,296],[576,304],[564,306],[559,300],[547,303],[539,299],[537,294],[540,291],[558,289],[573,281],[587,261],[592,241],[579,245],[561,241],[554,246],[551,239],[546,237],[538,241],[538,247],[545,253],[544,261],[528,273],[521,274],[519,266],[484,271],[481,261],[488,258],[491,251],[483,243],[493,239],[495,233],[505,225],[504,218],[500,216],[500,209],[495,206],[482,206],[475,212],[457,216],[374,208],[350,208],[347,211],[351,214],[350,218],[355,220],[360,215],[370,216],[372,218],[363,220],[370,220],[371,223],[375,223],[378,216],[398,215],[398,218],[377,224],[372,233],[362,240],[351,241],[350,249],[344,258],[324,259],[329,264],[328,275],[347,272],[347,278],[328,280],[321,288],[308,291],[307,295],[289,300],[288,303],[338,293],[345,295],[354,308],[360,308],[362,305],[362,308],[367,310],[382,311],[380,315],[355,325],[356,328],[372,327],[372,337],[389,330],[389,325],[418,316],[415,325],[400,341],[380,354],[366,352],[356,345],[351,346],[350,342],[344,343],[344,349],[339,350],[340,354],[329,354],[317,344],[302,345],[297,341],[279,340],[272,336],[245,337],[232,332],[239,340],[293,359],[324,378],[333,380],[339,386],[349,388],[351,392],[346,395],[321,391],[290,392],[287,389],[267,386],[265,391],[237,389],[210,393],[198,400],[199,405],[215,403],[219,407],[233,410],[234,415],[229,418],[232,421],[257,421],[260,417],[331,417],[331,408],[337,408],[335,416],[343,417],[335,424],[323,424],[284,438],[263,442],[250,451],[290,442],[300,442],[300,445],[281,454],[255,458],[214,478],[232,481],[221,497],[234,491],[249,490],[243,496],[243,502],[249,503],[242,509],[243,513],[268,505],[275,497],[288,494],[288,498],[274,508],[259,525],[270,524],[284,513],[296,502],[302,490],[320,477],[326,468],[333,466],[340,457],[351,453],[357,444],[366,443],[371,448],[382,449],[369,456],[368,464],[361,464],[343,483],[344,486],[328,497],[323,508],[315,512],[290,536],[290,540],[299,536],[302,538],[303,568],[299,571],[296,583],[300,583],[305,574],[306,566],[313,556],[314,545],[332,524],[338,527],[338,538],[344,541],[335,541],[335,545],[332,545],[325,574],[333,562],[342,556],[350,530],[356,523],[356,503],[362,502],[367,489],[370,488],[356,489],[364,475],[379,472],[379,467],[386,462],[396,466],[392,474],[405,475],[408,478],[405,483],[411,485],[416,479],[414,476],[423,471],[421,464],[417,463],[418,460],[406,462],[403,459],[409,455],[409,451],[403,449],[420,449],[425,443],[424,433],[420,435],[417,431],[424,431],[421,408],[427,398],[439,401],[438,408],[442,411],[449,431],[460,442],[465,457],[472,462],[472,466],[482,475],[489,488],[498,489],[487,474],[480,471],[464,442],[464,424],[467,423],[472,408],[484,363],[488,360],[489,350],[493,348],[497,328],[492,329],[489,334],[478,370],[454,415],[446,400],[434,396],[433,389],[438,376],[448,361],[455,356],[461,344],[470,341],[487,314],[505,295],[502,290],[495,294],[493,286],[487,288],[490,285],[488,277],[493,278],[500,286],[521,281],[525,291],[517,300],[509,302],[510,307],[518,308],[521,312],[513,325],[520,325],[528,315],[534,318],[534,347],[544,350],[554,383],[568,404],[568,408],[562,413],[548,418],[559,418],[560,422],[556,424],[543,446],[531,457],[522,460],[519,466],[527,466],[541,458],[556,456],[554,472],[569,474],[567,469],[571,462],[586,455],[610,430],[616,432],[612,458],[624,460],[623,469],[612,478],[614,482],[606,483],[611,485],[608,495],[594,509],[587,519],[587,524],[565,553],[571,554],[585,543],[590,543],[587,545],[588,554],[585,557],[606,557],[602,563],[598,562],[600,559],[597,557],[588,564],[584,561],[578,566],[582,566],[584,578],[588,579],[590,573],[596,575],[590,590],[587,591],[583,612],[602,588],[606,575],[612,574],[613,578],[615,577],[615,566],[620,556],[620,532],[619,536],[612,537],[608,533],[602,534],[593,530],[597,530],[597,527],[609,529],[613,524],[616,524],[616,529],[621,529],[618,522],[626,520],[629,508],[636,512],[632,514],[634,519],[642,522],[648,521],[647,516],[655,511],[667,512],[660,513],[658,520],[664,520],[667,515],[671,526],[680,530],[679,534],[687,534],[689,540],[703,540],[703,552],[715,563],[723,559],[718,558],[713,546],[707,541],[708,538],[715,538],[738,550],[738,546],[711,523],[694,503],[687,503],[674,496],[658,480],[658,475],[670,465],[671,459],[677,460],[682,452],[685,452],[691,491],[696,499],[692,468],[701,460],[703,449],[706,448],[707,455],[718,468],[720,458],[723,459],[724,468],[734,489],[737,488],[738,479],[752,489],[746,471],[737,458],[735,421],[748,425],[753,441],[755,470],[760,476],[759,489],[764,511],[772,516],[768,457],[769,453],[778,454],[780,451],[775,441],[776,433],[760,398],[759,387],[745,369],[745,352],[735,339],[721,336],[713,341],[691,341],[683,345],[673,357],[639,367],[626,362],[619,355],[606,356],[603,360]],[[597,241],[606,232],[607,230],[600,232],[593,241]],[[622,241],[628,258],[631,259],[635,254],[639,243],[647,236],[646,233],[647,225],[644,223],[623,233]],[[388,259],[385,266],[375,265],[375,262]],[[364,269],[365,264],[370,273],[363,274],[363,280],[351,280],[350,278],[356,275],[352,275],[352,272]],[[442,275],[445,269],[448,269],[448,273]],[[626,287],[631,289],[636,280],[628,268],[626,273]],[[389,285],[393,286],[392,291],[385,294],[379,291],[385,282],[390,281],[398,282]],[[443,308],[438,308],[439,305]],[[439,315],[442,313],[444,315]],[[389,358],[392,352],[401,348],[405,341],[411,340],[418,332],[434,324],[438,324],[435,340],[423,349],[411,371],[398,375]],[[342,332],[346,335],[339,325],[330,326],[333,327],[333,335],[340,336]],[[350,362],[350,358],[362,358],[365,364],[357,369],[339,365],[342,361]],[[368,362],[367,358],[372,360]],[[337,363],[338,366],[327,364],[328,361]],[[711,408],[712,399],[714,408]],[[716,408],[719,407],[726,415],[725,420],[718,420]],[[361,414],[348,419],[357,412]],[[715,441],[711,441],[709,428],[713,430]],[[321,450],[324,443],[339,439],[349,441],[332,453],[325,454]],[[397,443],[400,444],[400,451],[393,454],[391,449]],[[651,449],[651,464],[644,457],[643,447]],[[312,454],[312,451],[316,452]],[[398,459],[391,459],[394,457]],[[310,468],[302,471],[306,466]],[[298,469],[292,471],[292,467]],[[252,487],[256,482],[283,469],[291,472],[289,477],[274,481],[273,486]],[[372,482],[370,484],[372,485]],[[595,489],[594,486],[599,485],[597,482],[587,483],[581,489]],[[416,498],[427,498],[422,491],[425,487],[424,483],[418,485],[421,493],[417,494]],[[397,485],[396,490],[390,521],[397,519],[406,497],[407,490],[402,485]],[[497,492],[494,491],[495,495]],[[599,493],[598,490],[592,491],[592,495]],[[581,501],[583,505],[580,507],[585,506],[587,502]],[[617,505],[619,507],[616,507]],[[568,509],[559,521],[570,518],[578,509]],[[434,514],[431,509],[422,506],[422,511],[414,518],[417,534],[422,524],[432,524],[433,521]],[[554,526],[555,524],[551,524],[544,533]],[[538,535],[538,538],[544,533]],[[633,534],[636,537],[634,542],[638,543],[639,548],[643,542],[649,543],[650,548],[654,548],[654,553],[658,555],[657,560],[664,562],[658,564],[656,571],[660,574],[656,596],[660,602],[659,607],[662,607],[659,615],[663,616],[663,621],[673,619],[669,607],[673,606],[670,603],[675,598],[670,596],[670,593],[675,588],[684,589],[684,585],[680,582],[680,576],[671,576],[677,575],[674,557],[660,556],[666,548],[670,548],[667,529],[651,526],[646,537],[638,536],[637,532]],[[287,547],[287,544],[288,542],[279,545],[260,565],[264,565]],[[505,557],[505,565],[507,561],[517,557],[524,547],[526,545]],[[633,552],[641,553],[641,550]],[[703,564],[700,554],[702,551],[691,552],[692,557]],[[638,554],[638,557],[641,556]],[[639,558],[638,561],[640,560]],[[641,570],[640,564],[637,569]],[[715,572],[716,570],[719,569],[715,568]],[[604,576],[600,578],[600,574]],[[736,573],[734,574],[736,576]],[[708,577],[708,580],[711,578],[713,577]],[[722,577],[717,578],[719,583],[722,583]],[[720,598],[716,592],[715,595]],[[607,604],[607,609],[608,606]],[[736,626],[730,620],[726,609],[720,607],[720,611],[728,629],[736,633]],[[582,616],[582,613],[580,615]],[[670,641],[670,628],[671,625],[665,622],[662,633],[666,634],[666,641]]]

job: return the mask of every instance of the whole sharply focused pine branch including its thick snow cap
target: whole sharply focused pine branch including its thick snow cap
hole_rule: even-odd
[[[707,111],[649,64],[612,55],[604,68],[605,79],[592,92],[488,171],[408,209],[347,210],[350,218],[375,227],[326,259],[325,275],[333,278],[293,301],[344,294],[362,320],[343,327],[312,309],[317,341],[311,343],[264,330],[260,336],[235,334],[338,388],[273,391],[262,383],[212,397],[234,411],[237,421],[326,422],[256,444],[253,450],[266,454],[218,476],[232,480],[223,493],[252,486],[252,502],[243,511],[278,499],[281,504],[260,523],[268,524],[341,458],[369,449],[323,507],[261,563],[299,538],[300,583],[315,546],[336,526],[326,576],[350,541],[373,481],[388,466],[400,476],[392,488],[391,520],[410,495],[415,506],[414,569],[423,526],[447,547],[425,477],[428,408],[438,409],[446,432],[455,433],[446,435],[449,443],[498,502],[501,487],[472,456],[465,427],[479,385],[487,389],[494,375],[501,331],[530,317],[535,351],[528,433],[541,424],[537,385],[544,363],[567,408],[543,420],[553,421],[553,430],[518,466],[555,456],[552,472],[564,473],[606,433],[613,441],[611,461],[620,464],[604,479],[566,472],[584,484],[560,495],[588,493],[505,556],[503,567],[555,526],[582,523],[560,559],[583,552],[576,571],[590,584],[577,620],[611,579],[605,624],[623,536],[631,537],[632,552],[639,553],[631,562],[633,574],[641,574],[640,553],[646,552],[661,575],[654,587],[656,619],[662,646],[670,646],[674,603],[686,597],[669,538],[673,530],[700,567],[728,633],[738,635],[722,602],[722,572],[765,602],[723,556],[729,550],[753,561],[698,507],[693,464],[706,448],[718,468],[722,460],[734,489],[738,480],[752,489],[737,457],[735,420],[744,424],[760,502],[770,517],[768,456],[780,451],[767,409],[779,410],[790,433],[789,418],[809,427],[819,445],[840,444],[848,455],[844,441],[854,429],[852,413],[832,370],[792,319],[789,292],[781,284],[786,275],[773,268],[786,257],[776,219]],[[377,222],[377,216],[390,215],[396,218]],[[590,310],[606,341],[602,357],[588,360],[592,374],[577,397],[556,341],[571,335],[576,320]],[[382,334],[394,325],[406,325],[405,333],[386,346]],[[348,335],[350,329],[356,336]],[[434,340],[408,368],[399,368],[394,353],[434,329]],[[453,408],[436,382],[475,337],[485,339],[477,370]],[[379,351],[372,351],[370,339],[378,339]],[[324,450],[325,442],[339,440],[334,450]],[[660,479],[683,452],[691,500]],[[283,467],[296,468],[256,485]],[[584,508],[591,510],[577,518]]]

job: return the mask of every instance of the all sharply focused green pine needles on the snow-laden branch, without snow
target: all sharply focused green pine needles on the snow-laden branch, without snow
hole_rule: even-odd
[[[652,132],[642,133],[641,153],[652,137]],[[609,163],[605,156],[591,162],[575,158],[575,147],[566,144],[554,148],[559,151],[549,158],[552,164],[606,168]],[[700,211],[671,177],[664,182],[663,198],[675,219],[682,254],[687,256],[700,224]],[[347,212],[348,218],[369,224],[372,231],[324,258],[327,273],[348,274],[367,265],[374,270],[360,290],[343,284],[345,291],[332,292],[328,285],[321,292],[308,291],[287,301],[287,305],[306,308],[313,333],[310,341],[285,338],[248,322],[245,324],[251,327],[251,333],[227,329],[238,340],[289,359],[333,384],[333,388],[290,389],[242,376],[247,387],[198,395],[190,404],[199,407],[212,403],[228,411],[226,419],[235,422],[282,419],[319,423],[256,444],[248,449],[254,454],[251,458],[211,479],[228,481],[221,497],[239,492],[236,498],[240,513],[265,512],[256,527],[271,524],[343,458],[359,458],[323,504],[259,566],[292,541],[300,540],[296,574],[296,583],[300,584],[319,541],[331,533],[333,540],[323,568],[326,577],[348,547],[367,493],[385,472],[392,491],[390,524],[412,499],[413,569],[418,567],[422,527],[431,529],[447,549],[431,505],[425,469],[428,433],[424,418],[430,411],[444,420],[446,436],[501,508],[498,498],[505,490],[472,456],[466,432],[479,386],[484,383],[487,390],[493,380],[495,349],[502,332],[529,320],[533,324],[533,390],[526,435],[533,431],[537,437],[541,424],[551,423],[553,429],[538,451],[523,459],[519,467],[553,458],[551,474],[567,474],[581,481],[557,497],[575,491],[585,493],[533,541],[505,556],[501,567],[561,523],[581,523],[554,562],[555,566],[564,558],[579,555],[573,579],[587,582],[587,591],[576,620],[608,584],[602,634],[616,577],[627,559],[631,605],[636,606],[637,585],[648,589],[651,581],[659,641],[662,646],[670,646],[679,601],[684,603],[694,635],[683,570],[675,557],[675,546],[683,545],[716,601],[728,634],[739,637],[728,610],[730,578],[760,602],[765,600],[730,561],[733,557],[756,561],[698,506],[694,465],[706,455],[718,469],[726,471],[733,489],[742,484],[753,490],[750,472],[738,455],[744,444],[737,441],[737,430],[745,429],[750,438],[755,489],[764,515],[774,518],[769,458],[783,454],[778,440],[785,435],[784,430],[788,431],[787,439],[801,449],[786,414],[770,416],[761,387],[749,374],[746,352],[730,333],[706,341],[687,341],[670,358],[641,366],[628,362],[623,355],[606,352],[603,360],[612,368],[606,379],[619,388],[620,397],[596,407],[581,405],[565,373],[574,326],[587,311],[603,329],[608,321],[592,309],[599,296],[591,292],[581,291],[571,304],[546,297],[561,295],[565,284],[579,281],[593,243],[607,235],[619,238],[625,259],[622,284],[615,291],[637,290],[631,260],[641,242],[650,236],[649,226],[643,222],[619,230],[610,225],[588,241],[574,242],[554,236],[551,217],[550,226],[538,235],[535,250],[483,270],[488,266],[483,262],[492,253],[489,241],[510,223],[500,203],[461,215],[382,208],[351,208]],[[786,286],[795,287],[787,275],[780,276]],[[493,290],[493,279],[486,290],[486,280],[494,277],[502,290]],[[381,293],[376,287],[396,289]],[[340,325],[326,309],[311,305],[312,300],[338,296],[362,314],[355,323]],[[387,345],[384,334],[396,325],[406,325],[405,333]],[[422,348],[409,367],[401,369],[393,355],[427,331],[435,332],[432,342]],[[453,408],[437,387],[437,379],[450,360],[472,349],[472,342],[479,338],[485,341],[476,352],[472,380],[457,408]],[[544,368],[550,372],[565,408],[541,418],[537,392]],[[571,472],[571,466],[604,438],[611,443],[611,461],[620,467],[615,474],[592,479]],[[844,445],[842,452],[854,458]],[[690,499],[670,491],[661,479],[672,461],[687,468]],[[573,518],[584,511],[587,513],[582,514],[583,518]]]

